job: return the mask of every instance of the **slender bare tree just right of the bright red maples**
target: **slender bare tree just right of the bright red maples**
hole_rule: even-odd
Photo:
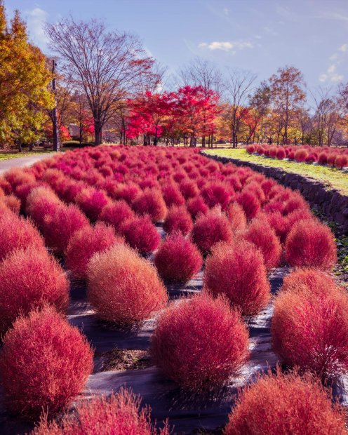
[[[227,95],[230,105],[229,122],[231,126],[231,143],[234,148],[238,144],[238,135],[243,123],[242,110],[246,107],[248,93],[253,88],[253,83],[256,79],[254,74],[242,71],[233,71],[229,73],[229,81],[227,83]]]

